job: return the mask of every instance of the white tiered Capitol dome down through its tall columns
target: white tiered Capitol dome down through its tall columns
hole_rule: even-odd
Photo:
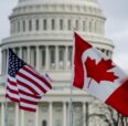
[[[71,57],[67,56],[72,53],[74,29],[97,49],[111,56],[114,45],[105,38],[105,20],[96,0],[19,0],[18,7],[10,15],[11,36],[1,43],[2,52],[6,53],[3,50],[8,46],[14,48],[17,53],[22,49],[23,60],[28,59],[28,63],[31,62],[31,65],[36,66],[41,72],[50,67],[70,70],[72,63]],[[61,55],[63,57],[60,63],[58,54],[53,54],[57,56],[53,57],[53,63],[49,63],[46,56],[40,59],[45,55],[46,46],[51,51],[57,50],[56,53],[68,50],[70,54]],[[42,55],[30,57],[31,55],[25,54],[28,48],[32,49],[33,55],[36,55],[35,50],[42,51]],[[42,61],[41,64],[39,60]],[[50,60],[52,57],[49,57]]]

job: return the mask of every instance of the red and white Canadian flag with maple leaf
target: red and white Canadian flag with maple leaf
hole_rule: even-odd
[[[86,90],[124,116],[128,116],[128,76],[77,33],[73,85]]]

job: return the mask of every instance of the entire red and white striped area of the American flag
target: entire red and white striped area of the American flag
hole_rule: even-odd
[[[39,99],[51,88],[50,81],[29,65],[20,69],[15,78],[8,75],[7,97],[24,111],[35,112]]]

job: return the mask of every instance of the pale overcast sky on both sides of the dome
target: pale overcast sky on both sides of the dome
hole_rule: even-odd
[[[106,36],[115,44],[114,61],[128,73],[128,0],[98,0],[107,18]],[[18,0],[0,0],[0,41],[9,36],[10,15]]]

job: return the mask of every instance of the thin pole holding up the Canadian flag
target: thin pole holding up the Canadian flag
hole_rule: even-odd
[[[70,126],[73,126],[73,77],[74,77],[74,38],[75,29],[73,28],[73,54],[72,54],[72,75],[71,75],[71,99],[70,99]]]

